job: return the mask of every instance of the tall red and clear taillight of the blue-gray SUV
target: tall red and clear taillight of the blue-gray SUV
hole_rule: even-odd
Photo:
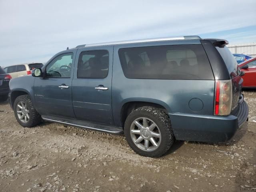
[[[232,82],[218,80],[215,87],[214,114],[229,115],[232,106]]]

